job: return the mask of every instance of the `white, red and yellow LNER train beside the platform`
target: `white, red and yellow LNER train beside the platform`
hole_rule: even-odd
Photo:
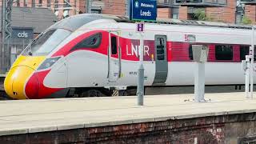
[[[136,26],[108,14],[78,14],[56,22],[11,66],[6,94],[14,99],[111,96],[114,90],[132,94],[141,38]],[[145,22],[145,86],[193,86],[193,45],[209,47],[206,85],[244,84],[241,62],[249,53],[251,33],[250,26],[223,22]]]

